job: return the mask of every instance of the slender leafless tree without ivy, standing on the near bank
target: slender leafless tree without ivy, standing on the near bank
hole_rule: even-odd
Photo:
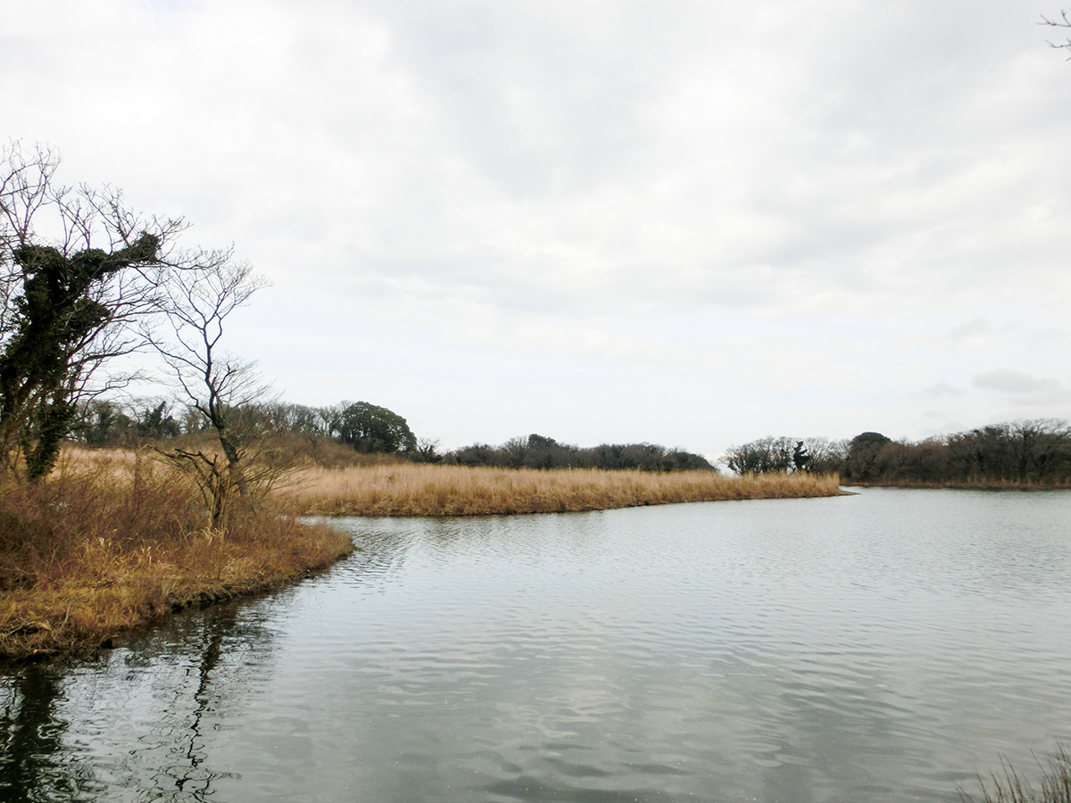
[[[233,259],[232,249],[206,252],[193,270],[194,281],[166,286],[161,312],[166,337],[146,335],[170,368],[180,395],[211,427],[223,452],[176,448],[163,452],[172,463],[193,471],[218,527],[227,501],[237,493],[252,496],[263,488],[272,472],[248,473],[252,453],[262,437],[257,406],[273,395],[256,364],[233,357],[223,347],[230,314],[267,284],[247,262]],[[262,467],[261,467],[262,468]]]

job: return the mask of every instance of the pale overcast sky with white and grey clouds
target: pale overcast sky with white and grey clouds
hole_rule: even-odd
[[[271,285],[282,397],[716,456],[1071,418],[1049,0],[0,0],[0,136]]]

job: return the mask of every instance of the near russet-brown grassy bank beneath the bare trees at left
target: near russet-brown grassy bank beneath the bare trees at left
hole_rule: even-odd
[[[274,588],[352,550],[278,502],[205,527],[181,474],[126,453],[0,480],[0,657],[91,650],[170,611]]]

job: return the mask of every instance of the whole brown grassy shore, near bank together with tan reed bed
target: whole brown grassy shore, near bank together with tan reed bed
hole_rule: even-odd
[[[0,667],[91,655],[171,613],[271,592],[355,551],[349,535],[298,516],[525,515],[844,495],[835,475],[304,468],[272,499],[236,502],[213,530],[181,475],[117,457],[0,488]]]

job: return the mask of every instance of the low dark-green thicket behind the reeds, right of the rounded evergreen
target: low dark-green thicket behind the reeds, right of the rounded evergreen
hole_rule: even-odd
[[[499,446],[476,443],[449,453],[444,461],[457,466],[533,469],[713,470],[702,455],[676,449],[669,450],[652,443],[603,443],[590,449],[580,449],[569,443],[559,443],[554,438],[543,435],[512,438]]]

